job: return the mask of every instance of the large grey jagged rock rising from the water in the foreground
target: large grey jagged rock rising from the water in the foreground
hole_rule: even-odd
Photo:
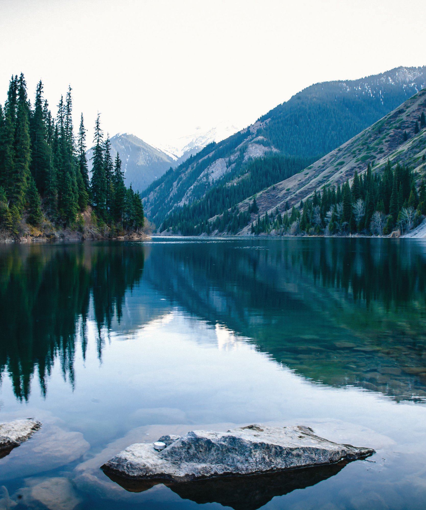
[[[102,469],[108,476],[183,482],[335,464],[374,453],[371,448],[333,443],[303,426],[249,425],[227,432],[195,430],[182,437],[164,436],[160,440],[167,444],[164,450],[155,450],[153,444],[134,444]]]

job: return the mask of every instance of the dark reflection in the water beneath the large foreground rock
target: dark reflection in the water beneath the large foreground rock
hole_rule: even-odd
[[[336,475],[347,462],[293,469],[276,473],[245,476],[222,476],[192,482],[170,483],[165,480],[129,480],[106,473],[129,492],[143,492],[158,483],[198,504],[220,503],[234,510],[257,510],[275,496],[284,496],[296,489],[311,487]]]

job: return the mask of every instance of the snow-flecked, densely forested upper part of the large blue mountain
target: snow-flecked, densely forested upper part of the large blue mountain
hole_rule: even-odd
[[[259,120],[259,134],[288,155],[316,156],[379,120],[425,88],[425,67],[398,67],[352,81],[317,83],[295,94]],[[323,129],[312,131],[322,122]]]

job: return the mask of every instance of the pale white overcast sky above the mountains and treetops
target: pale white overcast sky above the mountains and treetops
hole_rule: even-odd
[[[315,82],[426,65],[426,2],[0,0],[0,102],[10,75],[74,123],[167,143],[243,127]]]

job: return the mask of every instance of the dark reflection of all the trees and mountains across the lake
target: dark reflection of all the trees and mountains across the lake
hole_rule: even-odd
[[[45,394],[56,359],[76,384],[89,316],[101,359],[142,280],[166,301],[135,329],[173,305],[313,381],[425,401],[426,245],[389,239],[2,246],[0,374],[15,396],[34,373]]]

